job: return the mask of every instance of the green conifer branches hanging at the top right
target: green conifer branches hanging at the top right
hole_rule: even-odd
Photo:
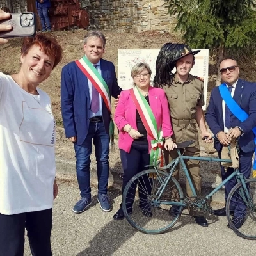
[[[166,0],[183,39],[193,48],[245,47],[256,39],[253,0]]]

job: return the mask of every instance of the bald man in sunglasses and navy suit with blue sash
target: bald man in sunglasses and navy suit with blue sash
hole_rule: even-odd
[[[220,143],[214,143],[214,148],[218,151],[219,156],[223,145],[228,145],[232,138],[238,138],[239,146],[239,170],[244,177],[250,177],[252,168],[252,156],[255,148],[254,134],[252,129],[256,126],[256,83],[251,83],[239,79],[239,67],[237,61],[233,58],[225,58],[220,62],[220,72],[223,85],[227,86],[232,98],[243,111],[248,114],[248,118],[241,122],[229,109],[221,97],[218,87],[213,88],[209,106],[206,113],[206,121],[214,136]],[[236,113],[235,113],[236,114]],[[225,180],[232,172],[233,168],[223,168],[221,166],[221,176]],[[236,185],[236,177],[231,179],[225,185],[225,200],[228,193]],[[235,227],[240,228],[245,221],[245,205],[237,199],[232,204],[233,209],[230,213],[234,214],[232,222]],[[218,216],[226,216],[225,208],[214,211]],[[228,227],[230,227],[228,225]]]

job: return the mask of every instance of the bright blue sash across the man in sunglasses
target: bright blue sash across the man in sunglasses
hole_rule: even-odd
[[[230,92],[228,91],[228,88],[225,84],[221,84],[219,86],[220,95],[222,99],[224,100],[225,104],[227,104],[228,108],[232,112],[234,116],[236,116],[237,119],[239,119],[241,122],[244,122],[248,118],[248,114],[241,109],[241,107],[237,104],[237,102],[232,98]],[[255,156],[256,156],[256,127],[252,129],[255,137],[254,137],[254,143],[255,143]],[[254,157],[255,157],[254,156]],[[255,157],[256,158],[256,157]],[[256,170],[256,161],[254,158],[254,164],[253,164],[253,170]]]

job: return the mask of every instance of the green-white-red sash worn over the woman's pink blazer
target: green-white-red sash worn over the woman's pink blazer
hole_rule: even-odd
[[[140,93],[138,88],[135,86],[130,89],[132,100],[138,110],[141,121],[145,126],[145,129],[151,140],[151,150],[150,150],[150,165],[160,165],[163,166],[163,131],[157,129],[156,118],[147,102],[145,97]]]

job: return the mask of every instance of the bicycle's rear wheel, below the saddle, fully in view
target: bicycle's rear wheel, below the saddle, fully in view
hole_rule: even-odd
[[[173,177],[163,191],[168,176],[166,172],[145,170],[129,180],[124,189],[122,207],[132,227],[146,234],[160,234],[175,225],[183,206],[178,205],[179,212],[174,217],[169,210],[172,202],[182,202],[183,192]]]

